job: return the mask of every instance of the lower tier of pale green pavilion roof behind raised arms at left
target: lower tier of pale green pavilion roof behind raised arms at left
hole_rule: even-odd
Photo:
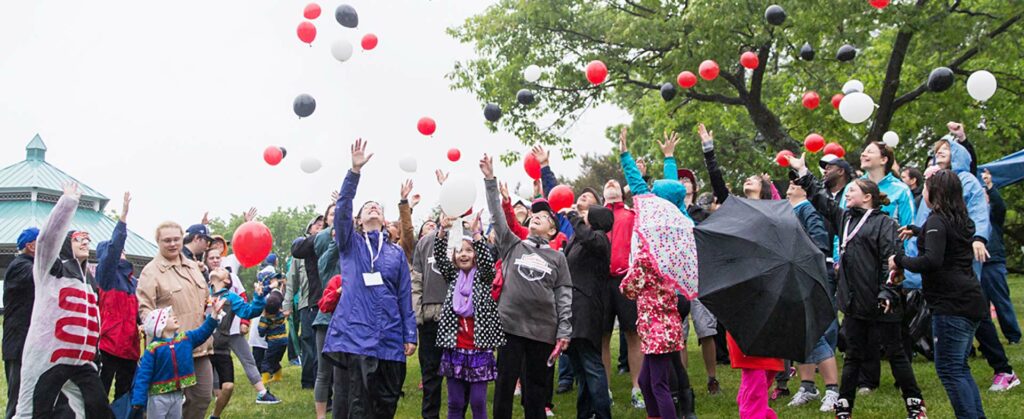
[[[51,203],[38,201],[0,201],[0,243],[17,243],[17,236],[27,227],[42,228],[53,206]],[[71,228],[89,232],[92,237],[89,247],[96,250],[99,242],[111,239],[116,225],[116,221],[99,212],[79,208],[75,212]],[[128,231],[125,253],[152,258],[157,254],[157,246]]]

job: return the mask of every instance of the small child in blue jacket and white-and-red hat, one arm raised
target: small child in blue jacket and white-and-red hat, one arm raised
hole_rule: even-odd
[[[220,312],[225,301],[214,301],[213,312]],[[135,373],[131,418],[141,418],[143,406],[148,419],[181,417],[181,390],[196,385],[193,346],[209,339],[217,324],[217,319],[207,315],[202,326],[179,333],[181,326],[170,306],[150,311],[143,328],[152,342],[145,346]]]

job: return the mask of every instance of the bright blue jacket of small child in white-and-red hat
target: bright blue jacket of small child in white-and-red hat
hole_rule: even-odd
[[[203,344],[216,328],[217,321],[207,316],[206,322],[196,330],[178,333],[170,339],[153,339],[145,346],[142,361],[135,371],[132,406],[145,406],[148,394],[163,394],[195,385],[193,346]]]

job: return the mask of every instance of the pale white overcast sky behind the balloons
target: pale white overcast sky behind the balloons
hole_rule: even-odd
[[[312,47],[296,36],[306,1],[2,2],[0,166],[22,161],[39,133],[46,160],[105,194],[109,208],[120,209],[122,193],[131,191],[130,227],[150,238],[165,219],[187,225],[206,210],[226,218],[250,206],[264,214],[323,208],[360,136],[376,156],[356,205],[381,201],[389,216],[397,215],[408,177],[397,167],[404,155],[418,158],[416,191],[432,206],[434,168],[479,178],[482,153],[524,150],[508,133],[490,133],[482,103],[444,78],[474,53],[445,28],[490,1],[347,1],[359,28],[335,20],[340,2],[319,3]],[[368,32],[380,44],[364,52],[358,41]],[[339,38],[356,46],[344,64],[330,52]],[[302,120],[292,112],[299,93],[316,98],[316,112]],[[422,116],[437,121],[433,137],[416,131]],[[627,118],[607,107],[590,111],[568,132],[573,148],[608,152],[604,128]],[[271,144],[289,152],[276,167],[262,160]],[[452,146],[461,149],[461,162],[445,159]],[[303,173],[299,162],[308,156],[324,168]],[[574,175],[577,165],[553,157],[560,174]],[[525,179],[521,165],[498,174]],[[482,193],[480,182],[481,205]]]

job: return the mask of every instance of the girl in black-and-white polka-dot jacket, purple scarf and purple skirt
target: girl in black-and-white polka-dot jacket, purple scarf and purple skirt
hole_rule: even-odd
[[[487,381],[498,376],[494,350],[505,344],[498,303],[490,298],[495,261],[476,216],[474,237],[459,250],[447,249],[447,232],[434,240],[434,261],[449,283],[441,308],[437,346],[443,348],[438,374],[447,377],[449,418],[466,417],[466,394],[474,419],[487,417]]]

